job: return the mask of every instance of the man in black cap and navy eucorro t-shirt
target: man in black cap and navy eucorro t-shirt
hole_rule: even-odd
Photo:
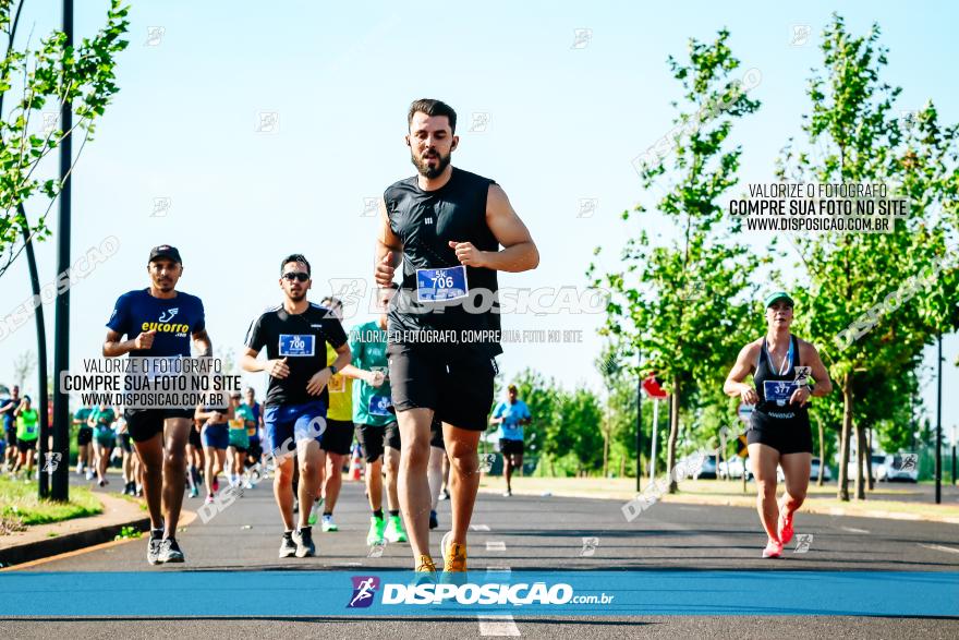
[[[147,261],[150,286],[124,293],[107,323],[104,357],[190,358],[191,337],[198,354],[209,357],[203,302],[177,291],[183,261],[174,246],[161,244]],[[126,337],[126,340],[123,337]],[[126,431],[143,462],[143,487],[150,517],[146,559],[151,565],[182,563],[174,538],[186,483],[186,440],[193,409],[126,409]],[[161,514],[162,510],[162,514]]]

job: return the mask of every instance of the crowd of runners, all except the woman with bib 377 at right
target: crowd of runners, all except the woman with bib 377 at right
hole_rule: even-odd
[[[278,261],[279,304],[253,319],[240,362],[248,373],[267,375],[262,404],[247,389],[245,398],[234,393],[222,407],[76,412],[77,472],[95,473],[106,484],[111,449],[130,449],[125,491],[147,503],[148,563],[184,561],[175,539],[184,495],[203,493],[215,502],[220,475],[242,491],[253,486],[252,474],[267,472],[280,515],[279,556],[315,555],[314,523],[324,532],[338,530],[335,508],[355,437],[366,462],[366,543],[409,542],[413,568],[434,575],[429,532],[439,526],[436,505],[446,494],[451,523],[440,541],[439,566],[466,570],[477,445],[489,426],[495,358],[502,349],[498,313],[464,302],[471,291],[495,299],[497,271],[535,268],[539,256],[502,189],[450,164],[459,144],[453,109],[417,100],[408,124],[417,173],[386,189],[379,203],[376,321],[348,335],[339,301],[311,302],[313,267],[304,255],[289,254]],[[155,247],[147,275],[149,287],[118,299],[102,355],[211,358],[203,302],[177,289],[180,252]],[[478,338],[457,345],[435,339],[448,335]],[[510,430],[510,440],[529,418],[524,406],[497,408],[493,422]],[[508,468],[522,464],[521,442],[508,448]]]

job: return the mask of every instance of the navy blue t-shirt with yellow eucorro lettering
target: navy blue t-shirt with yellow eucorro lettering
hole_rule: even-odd
[[[149,289],[124,293],[117,300],[107,327],[128,340],[139,334],[156,330],[149,349],[135,349],[133,357],[183,355],[190,357],[191,335],[206,327],[203,302],[196,295],[177,292],[175,298],[154,298]]]

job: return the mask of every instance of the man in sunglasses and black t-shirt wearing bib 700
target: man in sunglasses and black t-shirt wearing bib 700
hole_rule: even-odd
[[[267,310],[250,325],[241,366],[253,373],[269,373],[263,418],[267,450],[277,458],[274,495],[283,520],[280,557],[304,558],[316,555],[308,505],[319,495],[323,476],[319,443],[329,407],[327,384],[350,363],[350,347],[340,321],[330,310],[306,300],[313,285],[306,258],[301,254],[287,256],[280,263],[280,275],[283,303]],[[337,354],[331,363],[327,360],[327,343]],[[267,360],[257,360],[264,347]],[[302,505],[295,531],[291,455],[294,451]]]

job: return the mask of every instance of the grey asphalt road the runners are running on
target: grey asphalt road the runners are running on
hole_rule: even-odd
[[[111,485],[112,487],[112,485]],[[204,571],[204,570],[345,570],[408,569],[409,545],[387,545],[381,557],[367,557],[368,510],[360,483],[345,482],[337,507],[338,533],[314,535],[318,556],[277,558],[282,528],[270,487],[262,484],[208,523],[197,518],[178,538],[186,564],[148,567],[146,542],[131,541],[80,553],[23,571]],[[187,499],[196,510],[199,499]],[[627,522],[618,500],[562,497],[510,498],[482,494],[470,534],[470,567],[513,570],[891,570],[959,571],[959,528],[935,522],[815,516],[800,512],[797,532],[812,534],[806,553],[788,550],[780,560],[763,560],[765,543],[751,509],[656,504]],[[440,503],[440,529],[449,523],[449,503]],[[583,539],[596,539],[584,545]],[[585,551],[584,551],[585,548]],[[435,553],[439,555],[438,550]],[[0,580],[2,580],[0,573]],[[96,594],[89,594],[95,597]],[[158,594],[161,596],[161,594]],[[216,597],[215,593],[210,597]],[[762,593],[745,594],[762,599]],[[706,637],[841,638],[959,637],[956,618],[838,616],[608,616],[557,618],[199,618],[118,619],[56,617],[2,620],[10,638],[49,638],[77,633],[88,638],[165,638],[181,635],[221,639],[239,633],[257,637],[472,638],[482,635],[526,637]]]

